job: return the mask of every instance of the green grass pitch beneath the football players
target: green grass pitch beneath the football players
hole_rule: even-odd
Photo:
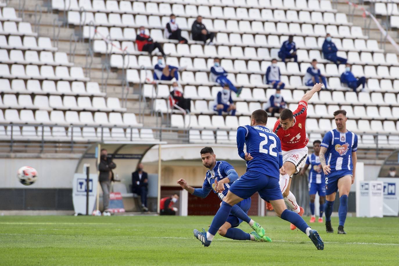
[[[218,235],[205,248],[192,232],[207,229],[209,216],[3,216],[0,265],[399,265],[397,217],[348,217],[346,235],[311,224],[324,250],[278,217],[253,218],[272,243]],[[338,218],[332,224],[336,231]]]

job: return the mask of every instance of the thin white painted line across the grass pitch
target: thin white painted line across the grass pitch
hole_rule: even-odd
[[[19,235],[19,236],[76,236],[76,235],[67,235],[67,234],[9,234],[9,233],[0,233],[0,235]],[[79,235],[83,236],[83,235]],[[87,235],[84,235],[87,236]],[[118,236],[124,238],[166,238],[166,239],[194,239],[193,237],[178,237],[178,236]],[[232,240],[229,238],[221,238],[218,240]],[[273,240],[273,242],[286,242],[286,243],[300,243],[303,241],[287,241],[287,240]],[[367,242],[324,242],[325,244],[353,244],[353,245],[380,245],[380,246],[399,246],[399,244],[395,243],[367,243]]]

